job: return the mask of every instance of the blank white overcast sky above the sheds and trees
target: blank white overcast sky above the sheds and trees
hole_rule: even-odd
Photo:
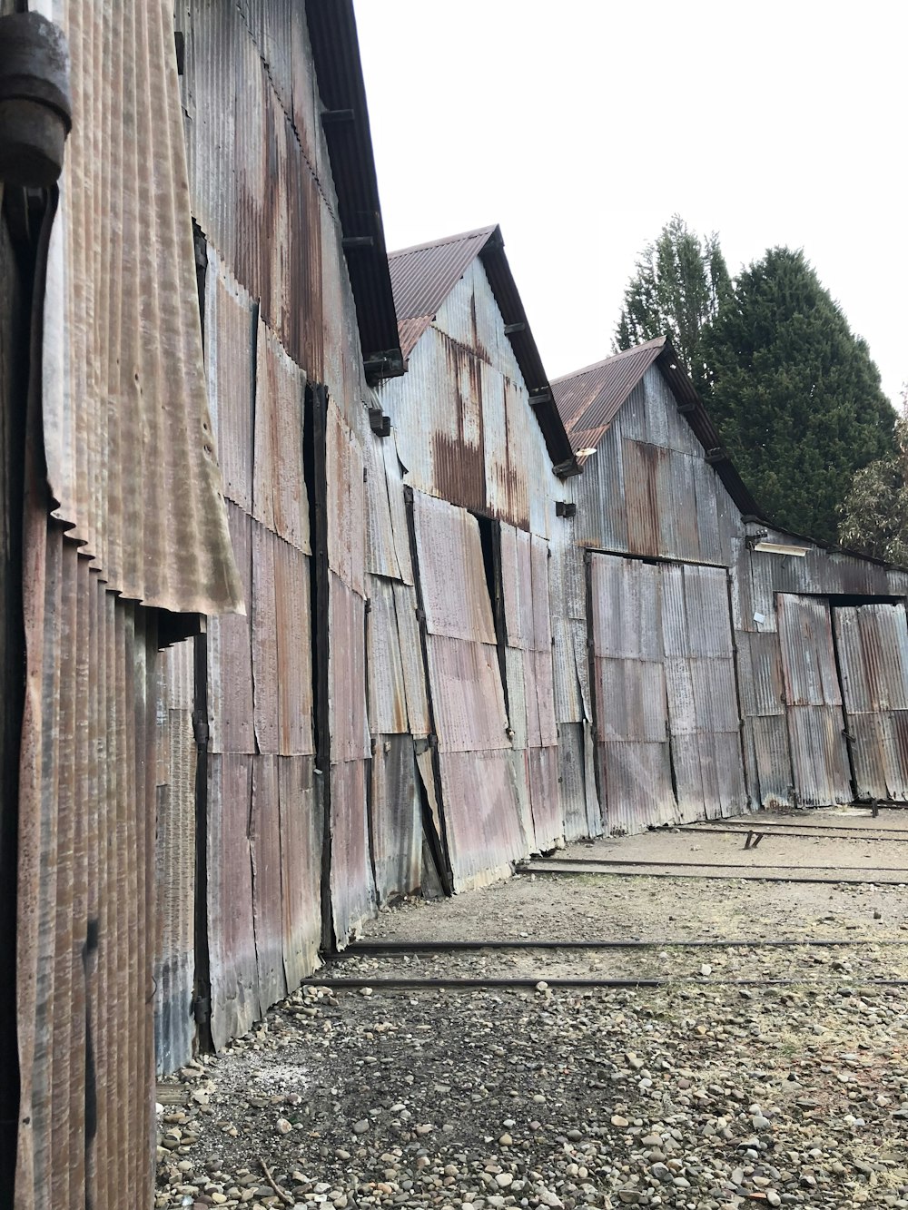
[[[599,361],[676,211],[803,247],[908,379],[906,0],[356,0],[390,249],[500,223],[542,361]]]

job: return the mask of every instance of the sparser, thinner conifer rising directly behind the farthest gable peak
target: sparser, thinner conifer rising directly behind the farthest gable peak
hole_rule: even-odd
[[[615,347],[632,348],[667,334],[700,388],[707,376],[703,329],[730,294],[718,236],[701,240],[674,214],[637,261],[625,290]]]

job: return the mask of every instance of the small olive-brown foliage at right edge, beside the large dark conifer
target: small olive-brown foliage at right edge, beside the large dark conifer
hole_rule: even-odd
[[[908,567],[908,386],[896,421],[895,453],[862,467],[839,512],[839,541]]]

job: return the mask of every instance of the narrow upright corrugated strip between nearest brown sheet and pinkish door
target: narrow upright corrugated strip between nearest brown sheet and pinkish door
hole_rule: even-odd
[[[242,621],[236,618],[236,621]],[[195,651],[161,653],[157,686],[155,828],[155,1059],[159,1072],[192,1058],[195,1018]]]

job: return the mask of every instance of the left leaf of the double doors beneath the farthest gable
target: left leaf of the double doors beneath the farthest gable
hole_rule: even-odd
[[[656,564],[591,557],[599,789],[610,835],[673,823],[660,575]]]

